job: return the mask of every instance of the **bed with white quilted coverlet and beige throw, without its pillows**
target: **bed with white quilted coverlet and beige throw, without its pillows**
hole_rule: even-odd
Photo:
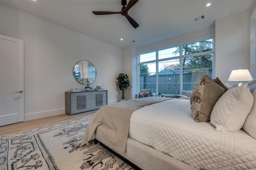
[[[246,115],[250,120],[245,119],[255,119],[256,123],[256,90],[249,92],[254,98]],[[223,105],[221,99],[218,105]],[[221,112],[216,109],[212,112]],[[224,129],[228,127],[216,130],[214,122],[198,123],[194,118],[188,99],[144,97],[122,101],[95,113],[81,144],[95,137],[143,170],[256,169],[254,125],[248,132],[244,127],[231,132]]]

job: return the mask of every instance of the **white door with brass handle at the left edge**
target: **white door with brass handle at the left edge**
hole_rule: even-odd
[[[0,35],[0,126],[24,121],[24,42]]]

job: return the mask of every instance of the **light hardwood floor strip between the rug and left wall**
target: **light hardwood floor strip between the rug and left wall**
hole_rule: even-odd
[[[90,115],[91,113],[96,113],[96,111],[97,110],[89,111],[89,112],[85,112],[85,113],[80,113],[80,114],[76,114],[76,115],[67,115],[65,113],[65,114],[61,114],[61,115],[55,115],[55,116],[44,117],[44,118],[40,118],[40,119],[33,119],[33,120],[30,120],[30,121],[15,123],[15,124],[12,124],[12,125],[6,125],[6,126],[3,126],[3,127],[0,127],[0,136],[10,134],[10,133],[14,133],[14,132],[19,132],[19,131],[22,131],[22,130],[27,130],[27,129],[30,129],[30,128],[49,125],[49,124],[56,123],[56,122],[66,121],[68,119],[82,117],[82,116],[85,116],[85,115]]]

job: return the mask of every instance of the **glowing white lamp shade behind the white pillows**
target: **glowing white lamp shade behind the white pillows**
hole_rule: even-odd
[[[232,70],[228,81],[249,81],[252,80],[252,76],[247,69]]]

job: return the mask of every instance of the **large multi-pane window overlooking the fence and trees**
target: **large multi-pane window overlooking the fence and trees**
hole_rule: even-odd
[[[192,90],[204,75],[212,77],[212,38],[138,55],[140,89],[180,94]]]

